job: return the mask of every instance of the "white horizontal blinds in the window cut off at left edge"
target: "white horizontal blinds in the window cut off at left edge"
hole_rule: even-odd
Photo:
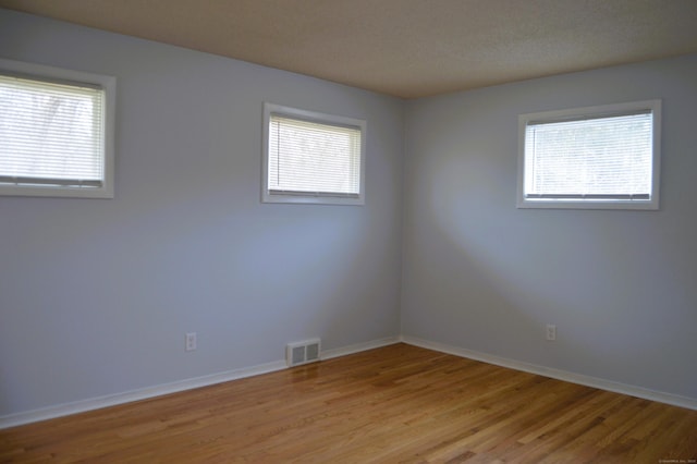
[[[101,187],[105,91],[0,75],[0,184]]]

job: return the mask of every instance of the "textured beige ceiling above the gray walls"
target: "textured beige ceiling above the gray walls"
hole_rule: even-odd
[[[697,0],[0,0],[403,98],[697,52]]]

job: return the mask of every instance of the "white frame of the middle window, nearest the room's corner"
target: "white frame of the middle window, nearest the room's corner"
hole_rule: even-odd
[[[290,119],[316,122],[319,124],[347,126],[360,131],[360,166],[359,192],[357,195],[297,193],[269,190],[269,123],[271,115],[278,114]],[[264,103],[262,131],[262,179],[261,202],[264,203],[296,203],[323,205],[365,205],[365,170],[366,170],[366,129],[367,122],[359,119],[346,118],[317,111],[302,110],[269,102]]]

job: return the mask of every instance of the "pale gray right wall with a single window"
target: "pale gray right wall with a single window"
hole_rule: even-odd
[[[652,98],[659,211],[515,208],[519,113]],[[405,335],[697,398],[697,56],[405,111]]]

